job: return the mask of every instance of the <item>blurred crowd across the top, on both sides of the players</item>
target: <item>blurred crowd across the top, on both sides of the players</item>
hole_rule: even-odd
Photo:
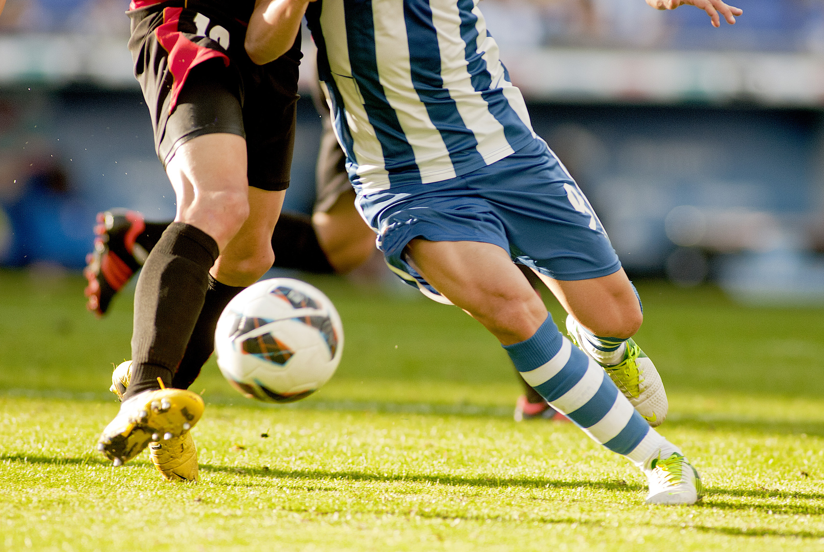
[[[483,0],[503,50],[545,47],[824,53],[824,0],[738,0],[745,16],[715,30],[704,12],[644,0]],[[8,0],[0,32],[127,35],[127,0]]]

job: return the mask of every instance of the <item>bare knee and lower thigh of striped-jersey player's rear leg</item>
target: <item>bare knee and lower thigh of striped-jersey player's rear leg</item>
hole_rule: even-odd
[[[632,337],[641,327],[641,305],[623,268],[609,276],[575,281],[536,274],[564,309],[595,335]]]

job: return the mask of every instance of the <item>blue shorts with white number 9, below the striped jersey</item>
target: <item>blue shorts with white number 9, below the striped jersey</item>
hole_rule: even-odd
[[[425,295],[438,292],[405,260],[413,238],[494,243],[555,280],[620,269],[592,205],[541,139],[461,177],[358,193],[358,207],[389,267]]]

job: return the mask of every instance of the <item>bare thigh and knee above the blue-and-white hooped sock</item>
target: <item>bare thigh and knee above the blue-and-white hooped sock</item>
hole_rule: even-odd
[[[483,242],[413,239],[410,264],[438,292],[482,323],[503,345],[532,336],[546,308],[509,253]]]

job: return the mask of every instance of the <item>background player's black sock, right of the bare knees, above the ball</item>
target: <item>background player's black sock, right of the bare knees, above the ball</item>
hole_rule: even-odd
[[[281,213],[272,234],[274,267],[331,274],[335,271],[317,241],[311,217]]]

